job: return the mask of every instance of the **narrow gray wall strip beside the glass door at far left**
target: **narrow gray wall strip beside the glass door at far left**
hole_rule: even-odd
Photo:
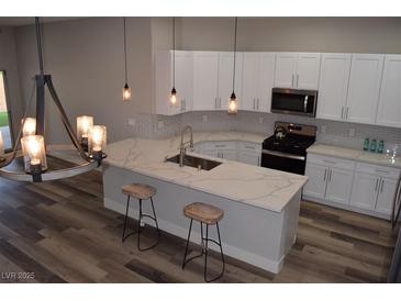
[[[13,29],[0,27],[0,70],[5,71],[7,97],[11,118],[14,121],[14,133],[18,131],[21,119],[22,101],[16,68],[15,41]]]

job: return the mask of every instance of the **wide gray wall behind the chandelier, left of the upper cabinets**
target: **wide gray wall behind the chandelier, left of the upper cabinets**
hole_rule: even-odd
[[[24,96],[29,94],[31,78],[37,73],[34,33],[32,25],[15,30]],[[52,74],[70,121],[75,124],[79,114],[93,115],[97,124],[108,126],[110,141],[130,135],[127,119],[132,114],[153,110],[151,19],[127,19],[126,33],[132,101],[124,103],[122,18],[90,18],[43,25],[45,71]],[[47,127],[52,127],[46,133],[47,141],[66,142],[67,135],[53,104],[47,105]]]

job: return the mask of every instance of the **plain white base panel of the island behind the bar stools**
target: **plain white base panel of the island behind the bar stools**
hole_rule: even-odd
[[[293,218],[298,223],[298,216],[292,216],[293,208],[297,207],[297,198],[291,201],[296,204],[287,208],[290,213],[286,210],[272,212],[105,165],[103,168],[104,207],[124,214],[126,196],[122,194],[121,187],[131,182],[143,182],[157,188],[154,202],[159,226],[182,238],[187,238],[189,227],[189,219],[182,214],[185,205],[191,202],[204,202],[221,208],[224,210],[224,218],[220,222],[224,253],[268,271],[278,272],[280,270],[288,252],[288,237],[292,236],[293,243],[293,226],[288,227],[285,215]],[[145,210],[149,210],[149,204],[144,203]],[[135,201],[132,202],[130,216],[137,219],[137,202]],[[283,231],[289,233],[283,233]],[[210,226],[210,233],[215,237],[214,226]],[[191,241],[199,244],[199,223],[194,223]],[[283,242],[286,243],[283,244]],[[211,247],[218,249],[213,244]]]

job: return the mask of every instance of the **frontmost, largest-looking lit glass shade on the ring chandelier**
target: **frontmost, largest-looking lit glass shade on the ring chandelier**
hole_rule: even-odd
[[[45,142],[42,135],[30,135],[21,138],[25,171],[41,174],[47,169]]]

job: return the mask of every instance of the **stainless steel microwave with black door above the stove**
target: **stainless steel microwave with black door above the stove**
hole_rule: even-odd
[[[314,118],[318,108],[316,90],[271,89],[271,112]]]

